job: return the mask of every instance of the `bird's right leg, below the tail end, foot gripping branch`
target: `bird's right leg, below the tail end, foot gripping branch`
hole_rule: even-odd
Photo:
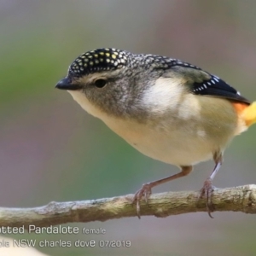
[[[214,208],[212,206],[212,192],[214,190],[214,186],[212,186],[212,180],[215,177],[215,175],[217,174],[220,166],[222,165],[222,162],[223,162],[222,153],[218,152],[218,153],[213,154],[213,160],[215,161],[214,169],[212,171],[212,174],[209,177],[207,177],[207,180],[204,182],[204,185],[201,188],[200,195],[199,195],[199,199],[201,199],[202,197],[206,198],[207,212],[211,218],[213,218],[211,212],[213,212],[213,210],[214,210]]]

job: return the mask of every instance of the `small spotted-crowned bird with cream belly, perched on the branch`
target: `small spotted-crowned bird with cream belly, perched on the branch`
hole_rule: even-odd
[[[177,174],[143,184],[134,196],[138,217],[140,201],[148,201],[153,187],[212,159],[215,166],[199,194],[212,218],[212,180],[233,137],[256,122],[256,102],[187,62],[113,48],[79,55],[55,87],[67,90],[85,111],[141,153],[180,168]]]

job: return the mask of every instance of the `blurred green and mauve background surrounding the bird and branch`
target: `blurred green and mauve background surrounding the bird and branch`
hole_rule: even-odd
[[[68,65],[100,47],[189,61],[256,99],[256,2],[0,0],[0,205],[36,207],[134,193],[177,172],[151,160],[55,90]],[[256,183],[256,125],[226,150],[217,187]],[[201,189],[213,163],[154,192]],[[255,255],[255,216],[191,213],[74,224],[130,240],[131,248],[39,248],[49,255]]]

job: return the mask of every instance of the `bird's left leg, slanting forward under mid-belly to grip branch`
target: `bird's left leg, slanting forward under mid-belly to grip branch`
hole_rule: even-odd
[[[155,186],[158,186],[162,183],[169,182],[178,177],[186,176],[189,174],[189,172],[192,171],[192,166],[181,166],[181,168],[182,168],[181,172],[178,172],[177,174],[174,174],[169,177],[164,177],[160,180],[156,180],[151,183],[145,183],[145,184],[143,184],[143,187],[141,189],[137,190],[137,192],[135,193],[134,198],[133,198],[133,203],[136,203],[138,218],[140,218],[140,201],[142,200],[142,198],[144,198],[144,200],[148,203],[148,197],[151,194],[152,188],[154,188]]]

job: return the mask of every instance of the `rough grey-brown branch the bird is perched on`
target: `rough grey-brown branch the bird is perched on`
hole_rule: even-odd
[[[141,202],[141,216],[167,217],[189,212],[207,212],[203,199],[197,200],[198,191],[166,192],[151,195],[148,205]],[[73,222],[87,223],[113,218],[136,217],[132,205],[133,195],[103,198],[90,201],[52,201],[44,207],[0,208],[0,226],[24,227],[29,225],[47,227]],[[212,203],[218,212],[256,213],[256,185],[228,189],[216,189]]]

